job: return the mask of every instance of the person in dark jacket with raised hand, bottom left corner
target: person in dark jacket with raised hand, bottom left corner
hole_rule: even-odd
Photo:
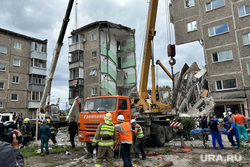
[[[13,130],[17,136],[21,137],[22,134],[18,130]],[[0,166],[1,167],[24,167],[23,155],[19,149],[19,142],[16,135],[13,134],[12,145],[7,142],[0,141]]]

